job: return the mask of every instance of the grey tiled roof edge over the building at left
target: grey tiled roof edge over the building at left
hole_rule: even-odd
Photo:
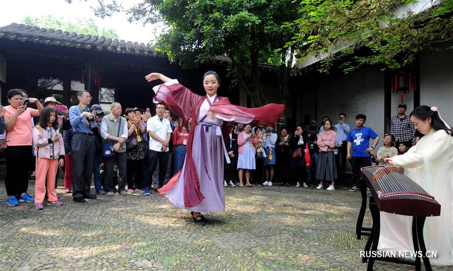
[[[163,56],[144,43],[110,39],[105,37],[69,33],[67,31],[39,28],[13,23],[0,27],[0,39],[34,42],[45,45],[55,45],[74,48],[92,49],[114,52],[118,54]]]

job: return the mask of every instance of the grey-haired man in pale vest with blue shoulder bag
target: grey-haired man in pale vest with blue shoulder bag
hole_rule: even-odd
[[[111,114],[102,118],[101,137],[103,141],[113,141],[111,151],[115,155],[104,157],[104,182],[107,196],[114,196],[115,187],[113,186],[113,163],[116,161],[118,166],[118,193],[126,196],[126,139],[127,121],[121,117],[122,108],[119,103],[112,103],[110,106]]]

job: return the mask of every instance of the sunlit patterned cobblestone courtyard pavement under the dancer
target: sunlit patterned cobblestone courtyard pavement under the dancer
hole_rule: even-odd
[[[30,203],[8,207],[5,193],[0,181],[0,270],[366,269],[359,256],[366,237],[354,236],[360,194],[345,188],[226,188],[226,213],[207,214],[205,227],[157,194],[77,204],[59,188],[64,205],[37,211]]]

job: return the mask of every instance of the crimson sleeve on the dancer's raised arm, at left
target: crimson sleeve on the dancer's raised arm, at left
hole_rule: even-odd
[[[184,126],[192,116],[193,109],[200,101],[201,96],[190,91],[182,84],[161,84],[154,96],[154,100],[169,107],[170,111],[181,117],[179,125]]]

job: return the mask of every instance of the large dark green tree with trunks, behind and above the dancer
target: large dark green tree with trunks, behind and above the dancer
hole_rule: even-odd
[[[260,63],[280,66],[280,97],[288,99],[293,49],[283,48],[296,32],[282,27],[298,17],[299,4],[292,0],[143,0],[124,10],[115,2],[99,1],[98,16],[124,11],[131,21],[163,22],[167,29],[158,37],[156,49],[183,67],[223,57],[230,75],[237,79],[255,105],[263,105]],[[278,50],[273,55],[273,52]]]

